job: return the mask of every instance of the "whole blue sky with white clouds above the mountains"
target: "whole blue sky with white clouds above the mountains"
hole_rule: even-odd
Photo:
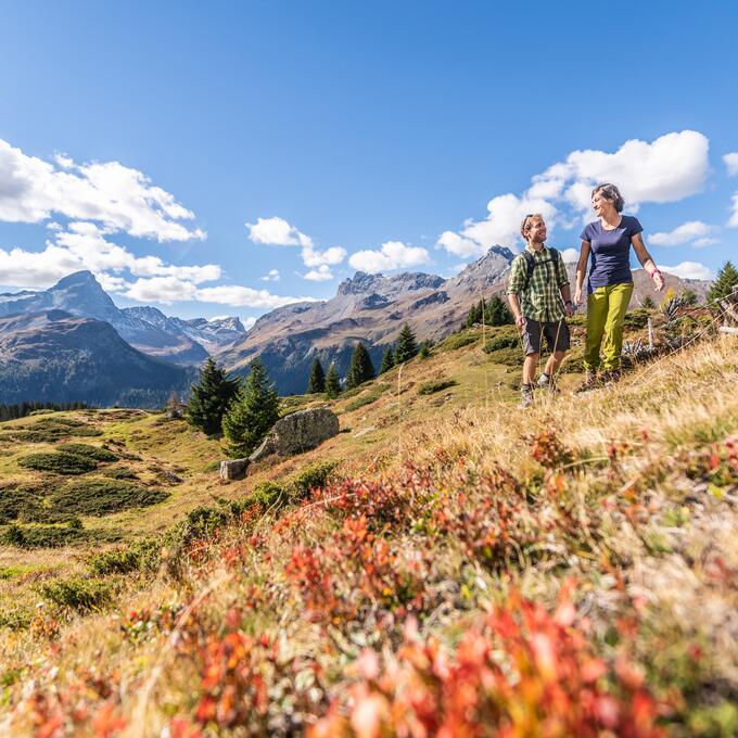
[[[449,276],[610,179],[657,262],[738,257],[735,2],[4,3],[0,284],[253,318]],[[735,154],[730,156],[730,154]],[[534,179],[535,178],[535,179]]]

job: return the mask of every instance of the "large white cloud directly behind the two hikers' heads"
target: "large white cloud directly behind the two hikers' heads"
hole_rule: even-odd
[[[520,222],[527,213],[542,213],[551,231],[571,228],[589,211],[593,188],[614,182],[628,212],[642,203],[665,203],[698,192],[708,174],[709,141],[694,130],[666,133],[653,142],[626,141],[613,153],[573,151],[565,161],[535,175],[521,194],[493,198],[484,220],[469,220],[458,233],[445,231],[438,245],[461,257],[481,256],[491,245],[520,249]],[[738,225],[738,215],[735,216]]]

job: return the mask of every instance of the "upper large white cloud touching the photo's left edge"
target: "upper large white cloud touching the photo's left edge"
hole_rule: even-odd
[[[205,238],[180,222],[194,214],[137,169],[119,162],[75,164],[63,154],[55,165],[0,139],[0,220],[40,222],[59,214],[157,241]]]

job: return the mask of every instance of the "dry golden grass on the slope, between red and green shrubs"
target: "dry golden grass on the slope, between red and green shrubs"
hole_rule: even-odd
[[[444,377],[459,385],[440,393],[450,395],[443,402],[415,391],[423,381]],[[540,545],[548,547],[545,555],[530,563],[523,557],[522,563],[508,568],[505,575],[469,561],[456,545],[434,549],[434,586],[456,594],[441,598],[437,609],[423,621],[422,632],[453,642],[471,614],[504,598],[513,583],[525,595],[551,602],[562,576],[574,575],[581,584],[580,600],[598,637],[605,637],[615,613],[622,614],[633,598],[644,600],[645,625],[636,648],[644,664],[652,666],[654,688],[659,680],[669,686],[670,678],[682,679],[679,670],[686,667],[685,660],[690,663],[689,649],[699,644],[704,654],[700,676],[684,687],[685,694],[692,689],[702,699],[699,690],[707,690],[704,685],[710,684],[720,685],[720,694],[738,694],[738,587],[729,574],[720,578],[715,573],[738,571],[738,491],[734,485],[721,497],[707,484],[700,486],[685,476],[690,451],[723,443],[738,429],[738,393],[734,389],[738,341],[725,336],[699,344],[642,367],[614,387],[586,395],[570,394],[573,380],[568,379],[560,396],[542,395],[524,412],[510,402],[516,394],[510,386],[513,378],[504,368],[491,366],[479,346],[427,361],[416,359],[403,369],[399,387],[398,370],[393,370],[371,385],[389,385],[381,397],[341,416],[342,428],[348,432],[319,449],[265,465],[245,481],[228,485],[219,484],[213,472],[203,471],[217,458],[217,446],[189,429],[177,423],[156,425],[153,416],[132,423],[106,423],[106,438],[125,438],[126,448],[142,456],[137,467],[142,475],[147,465],[158,462],[182,469],[187,482],[173,488],[171,498],[155,511],[120,513],[101,525],[125,526],[132,535],[163,531],[214,495],[243,497],[256,482],[282,479],[317,459],[339,460],[342,473],[373,480],[396,479],[411,462],[432,469],[436,486],[449,495],[463,492],[465,480],[499,467],[520,479],[538,479],[540,467],[531,458],[531,440],[556,431],[573,458],[565,493],[572,510],[580,514],[583,526],[599,526],[591,532],[591,546],[568,550],[563,539],[542,532]],[[364,392],[371,392],[371,386]],[[334,407],[341,410],[352,399],[340,398]],[[614,456],[613,445],[620,448]],[[4,462],[11,463],[7,458]],[[637,519],[615,510],[593,521],[593,500],[616,501],[631,495],[642,507]],[[192,618],[196,614],[203,627],[218,632],[225,613],[247,601],[254,584],[268,588],[279,607],[251,613],[243,627],[275,638],[282,659],[300,654],[325,663],[340,690],[342,667],[358,656],[361,642],[335,633],[338,646],[333,647],[339,656],[326,656],[325,636],[304,616],[304,605],[283,575],[295,540],[320,545],[338,523],[322,513],[320,505],[308,510],[292,534],[276,534],[273,522],[273,513],[266,512],[247,530],[227,529],[206,546],[201,558],[188,559],[177,580],[164,571],[153,578],[122,577],[111,610],[84,616],[51,612],[48,618],[40,616],[39,622],[59,619],[60,632],[52,638],[38,627],[4,632],[0,636],[0,676],[11,672],[14,676],[7,688],[9,713],[0,722],[0,730],[26,735],[36,714],[29,712],[29,695],[63,694],[84,675],[112,685],[116,714],[125,718],[120,735],[162,735],[173,715],[191,714],[196,701],[193,690],[200,679],[199,667],[178,651]],[[244,540],[255,533],[267,536],[270,557],[266,560]],[[393,540],[399,550],[418,547],[417,536],[407,532],[398,532]],[[237,568],[224,558],[224,551],[233,546],[245,546]],[[79,551],[69,549],[23,556],[0,550],[0,565],[23,561],[39,571],[53,567],[84,571],[80,558]],[[602,569],[603,560],[618,563]],[[463,609],[449,605],[457,601],[458,591],[469,593]],[[120,625],[131,610],[167,603],[183,608],[169,632],[122,637]],[[358,638],[358,634],[352,637]],[[380,640],[379,646],[389,648],[390,644]],[[690,692],[687,697],[692,699]],[[90,701],[94,703],[94,699]],[[717,728],[712,733],[699,733],[698,728],[686,716],[670,729],[676,736],[727,735]],[[79,730],[79,735],[92,735],[90,724]]]

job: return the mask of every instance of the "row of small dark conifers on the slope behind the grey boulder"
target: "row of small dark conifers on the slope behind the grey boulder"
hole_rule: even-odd
[[[382,356],[382,364],[379,373],[383,374],[405,361],[409,361],[413,356],[420,355],[425,358],[430,355],[430,345],[425,342],[418,345],[416,334],[412,329],[405,323],[399,332],[396,345],[390,345],[384,349]],[[348,371],[346,372],[345,389],[353,390],[354,387],[368,382],[377,377],[377,370],[372,364],[371,356],[364,343],[357,343],[351,357]],[[338,397],[341,392],[341,380],[335,364],[331,362],[328,372],[323,370],[319,358],[313,360],[310,367],[310,374],[307,380],[307,393],[317,394],[325,392],[329,398]]]

